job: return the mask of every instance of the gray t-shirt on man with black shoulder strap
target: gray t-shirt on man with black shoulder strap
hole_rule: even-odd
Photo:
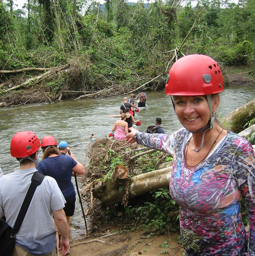
[[[0,179],[0,217],[14,226],[20,207],[31,184],[35,168],[16,170]],[[52,211],[66,203],[58,184],[46,176],[36,188],[26,216],[16,235],[16,244],[33,255],[45,255],[56,246],[56,230]]]

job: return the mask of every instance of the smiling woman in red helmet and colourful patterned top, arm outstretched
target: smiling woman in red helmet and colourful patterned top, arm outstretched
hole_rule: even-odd
[[[127,142],[173,155],[170,193],[180,206],[187,256],[255,255],[255,155],[250,143],[215,120],[221,70],[209,56],[192,54],[171,67],[165,92],[184,126],[173,134],[140,133]],[[240,215],[245,200],[250,232]]]

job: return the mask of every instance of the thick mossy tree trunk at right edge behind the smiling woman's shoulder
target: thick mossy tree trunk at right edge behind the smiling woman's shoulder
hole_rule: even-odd
[[[242,105],[226,115],[222,118],[222,123],[227,125],[226,128],[228,130],[234,133],[240,133],[243,130],[245,123],[252,118],[255,118],[255,100]]]

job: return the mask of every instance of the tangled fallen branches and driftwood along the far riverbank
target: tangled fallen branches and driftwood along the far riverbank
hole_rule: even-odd
[[[86,62],[85,62],[86,63]],[[44,71],[43,74],[38,72]],[[26,72],[36,72],[28,78]],[[94,74],[93,81],[89,79],[89,65],[72,61],[70,64],[50,69],[24,68],[18,70],[0,70],[0,76],[21,73],[20,78],[12,77],[0,84],[0,103],[2,106],[13,106],[35,102],[53,102],[61,98],[79,100],[85,97],[107,97],[130,94],[149,86],[152,90],[162,89],[165,77],[158,75],[149,77],[135,77],[130,81],[115,82]],[[32,74],[30,73],[29,76]],[[141,81],[144,82],[137,87]]]

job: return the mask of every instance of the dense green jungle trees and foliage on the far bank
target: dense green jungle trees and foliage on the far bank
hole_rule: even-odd
[[[105,81],[135,84],[168,72],[174,50],[212,56],[222,65],[247,65],[255,57],[255,1],[30,0],[22,10],[0,1],[0,69],[78,63],[72,90],[102,90]],[[183,42],[183,44],[182,44]],[[254,65],[253,65],[254,67]],[[77,74],[76,74],[77,75]],[[5,82],[7,77],[0,77]],[[56,82],[54,92],[65,81]],[[142,83],[141,80],[140,83]],[[148,87],[153,86],[149,84]],[[63,97],[65,97],[63,95]]]

